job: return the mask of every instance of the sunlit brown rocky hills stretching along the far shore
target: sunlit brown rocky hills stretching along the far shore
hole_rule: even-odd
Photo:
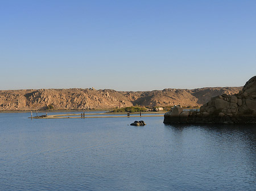
[[[242,87],[212,87],[187,89],[164,89],[154,91],[95,90],[94,88],[2,90],[0,91],[0,111],[30,111],[46,109],[53,105],[56,110],[108,109],[115,107],[166,107],[183,105],[200,106],[210,97],[232,95]]]

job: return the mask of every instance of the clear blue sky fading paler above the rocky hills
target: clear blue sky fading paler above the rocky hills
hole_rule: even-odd
[[[0,0],[0,90],[243,86],[256,1]]]

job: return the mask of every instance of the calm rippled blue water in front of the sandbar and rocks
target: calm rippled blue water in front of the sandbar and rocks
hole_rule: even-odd
[[[0,113],[0,190],[256,190],[255,125],[27,117]]]

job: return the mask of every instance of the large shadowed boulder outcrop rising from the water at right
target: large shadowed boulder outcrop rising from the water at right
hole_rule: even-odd
[[[212,97],[200,112],[172,108],[164,114],[164,123],[256,123],[256,76],[238,94]]]

